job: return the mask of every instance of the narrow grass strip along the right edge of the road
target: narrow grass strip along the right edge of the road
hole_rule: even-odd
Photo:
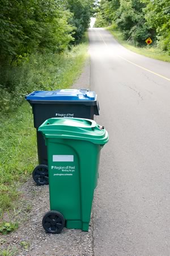
[[[111,32],[114,38],[120,44],[122,44],[122,46],[130,49],[131,51],[139,53],[141,55],[145,55],[147,57],[151,57],[152,59],[170,62],[170,56],[168,55],[168,53],[161,51],[158,47],[154,47],[152,45],[148,45],[146,47],[135,47],[123,39],[121,31],[118,31],[117,29],[114,29],[112,27],[108,27],[107,30]]]

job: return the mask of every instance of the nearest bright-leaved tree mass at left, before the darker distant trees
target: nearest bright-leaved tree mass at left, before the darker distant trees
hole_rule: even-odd
[[[73,40],[71,14],[59,0],[1,0],[0,8],[1,59],[45,48],[59,52]]]

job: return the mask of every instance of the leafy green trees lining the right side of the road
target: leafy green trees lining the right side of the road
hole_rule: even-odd
[[[151,37],[170,55],[170,3],[167,0],[101,0],[95,27],[112,25],[135,46],[146,45]]]

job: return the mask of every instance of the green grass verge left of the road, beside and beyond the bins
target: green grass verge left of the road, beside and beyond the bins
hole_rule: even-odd
[[[23,100],[24,95],[33,90],[69,88],[82,72],[87,56],[87,43],[82,43],[59,56],[32,56],[23,65],[24,71],[25,67],[28,69],[25,76],[20,73],[18,80],[19,88],[23,89],[19,92],[18,88],[17,97],[10,95],[5,101],[6,109],[0,112],[0,218],[16,207],[21,196],[17,188],[37,164],[36,129],[31,106]],[[17,72],[22,69],[15,70],[15,77],[19,77]]]

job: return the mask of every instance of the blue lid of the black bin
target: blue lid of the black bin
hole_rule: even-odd
[[[38,90],[25,96],[31,101],[94,101],[96,93],[86,89]]]

